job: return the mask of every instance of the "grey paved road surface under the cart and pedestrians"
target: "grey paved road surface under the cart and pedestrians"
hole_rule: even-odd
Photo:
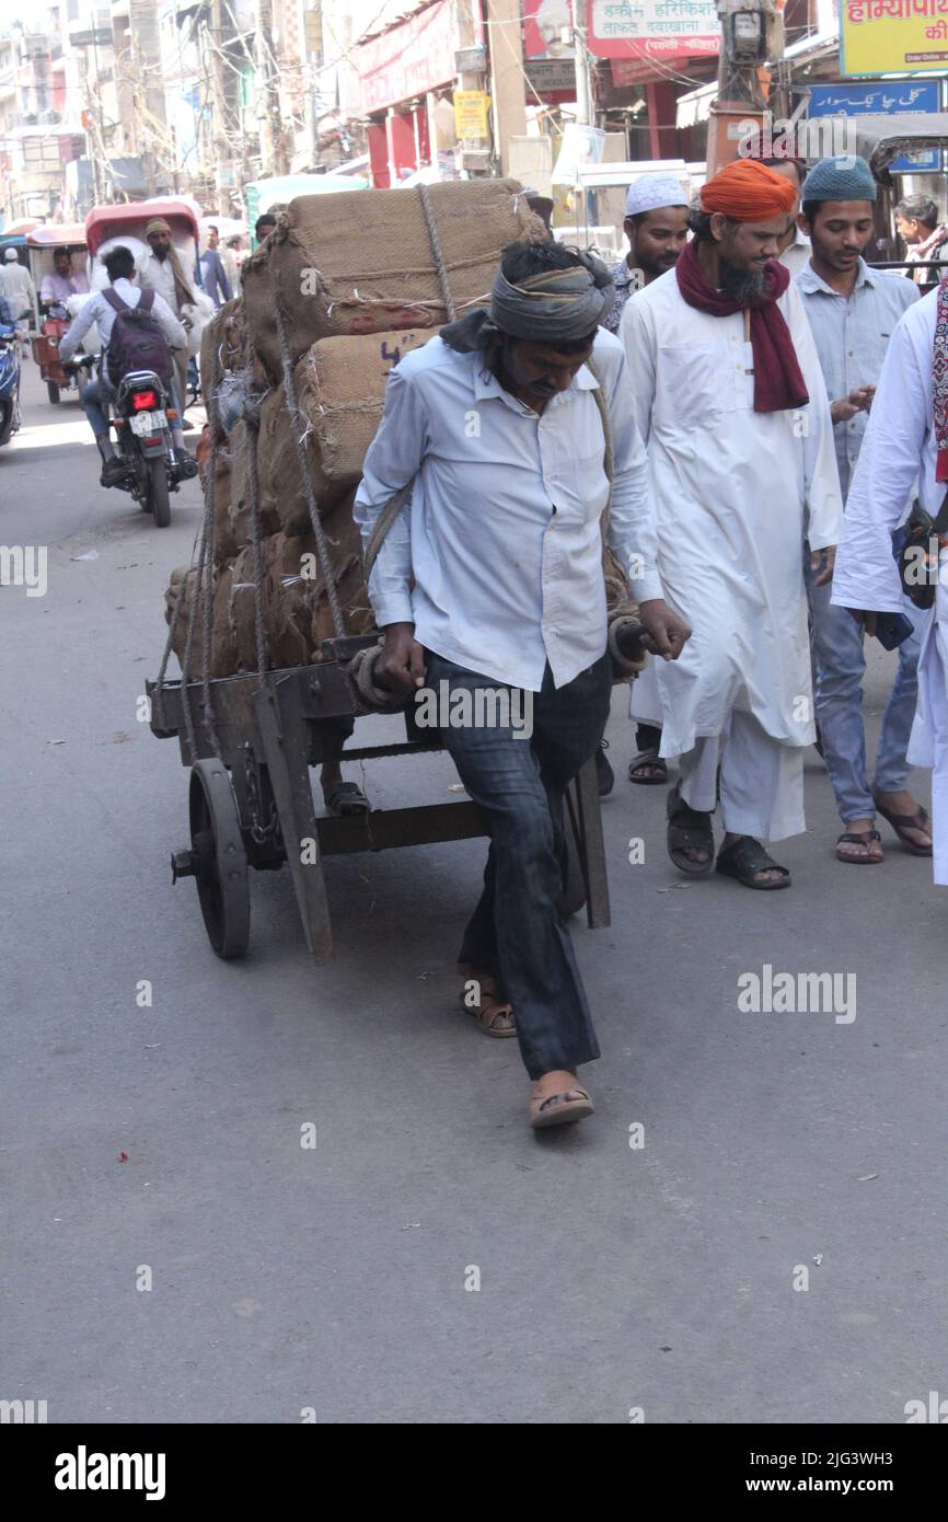
[[[50,1422],[898,1423],[945,1391],[930,863],[883,825],[883,866],[837,864],[813,752],[793,889],[685,883],[665,790],[624,779],[616,689],[612,928],[575,928],[598,1108],[537,1140],[516,1046],[457,1003],[481,842],[330,861],[324,968],[286,872],[253,880],[239,963],[172,887],[187,776],[135,705],[198,510],[189,484],[157,531],[100,490],[76,402],[29,367],[0,451],[0,542],[49,548],[44,597],[0,589],[0,1397]],[[376,807],[453,781],[367,772]],[[846,983],[841,1018],[741,1012],[764,963],[852,974],[855,1018]]]

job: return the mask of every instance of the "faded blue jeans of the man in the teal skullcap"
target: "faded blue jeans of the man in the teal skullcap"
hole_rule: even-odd
[[[866,729],[863,724],[863,629],[845,607],[832,607],[829,586],[814,586],[806,565],[810,598],[810,638],[816,658],[816,718],[823,741],[823,759],[835,793],[843,823],[872,819],[875,801],[866,770]],[[905,785],[908,735],[918,696],[918,662],[928,612],[904,598],[904,613],[915,633],[899,645],[898,671],[875,756],[875,788],[898,793]]]

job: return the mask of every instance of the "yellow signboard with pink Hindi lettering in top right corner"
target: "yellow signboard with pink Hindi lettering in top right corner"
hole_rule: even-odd
[[[942,73],[948,0],[840,0],[840,73]]]

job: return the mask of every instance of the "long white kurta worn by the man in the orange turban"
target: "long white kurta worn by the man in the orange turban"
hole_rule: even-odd
[[[781,744],[816,738],[803,540],[835,545],[843,502],[826,387],[806,314],[779,300],[810,403],[755,412],[744,317],[688,306],[674,269],[625,306],[639,432],[648,447],[668,601],[694,633],[674,662],[653,662],[633,714],[662,728],[662,755],[720,735],[736,709]]]

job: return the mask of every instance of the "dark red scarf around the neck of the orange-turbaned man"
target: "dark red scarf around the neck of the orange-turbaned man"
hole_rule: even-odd
[[[735,301],[712,286],[698,260],[698,245],[685,244],[674,266],[679,291],[698,312],[711,317],[732,317],[750,307],[750,347],[753,350],[753,409],[782,412],[790,406],[805,406],[810,394],[793,347],[790,329],[778,306],[778,297],[790,285],[790,271],[776,259],[764,265],[764,295],[750,301]]]

